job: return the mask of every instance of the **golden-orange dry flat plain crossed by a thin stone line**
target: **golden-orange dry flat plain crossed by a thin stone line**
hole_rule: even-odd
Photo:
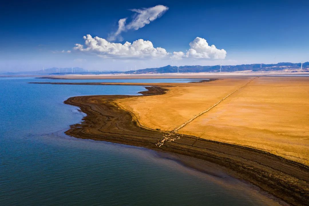
[[[249,82],[223,76],[169,87],[165,95],[117,103],[149,128],[171,131]],[[167,85],[167,83],[165,83]],[[309,165],[309,77],[258,77],[179,133],[264,150]]]

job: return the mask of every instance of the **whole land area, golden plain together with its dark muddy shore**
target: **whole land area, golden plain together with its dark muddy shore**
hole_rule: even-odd
[[[72,125],[68,135],[198,158],[286,203],[306,205],[309,78],[190,78],[214,81],[53,84],[142,85],[147,89],[142,96],[69,98],[65,103],[80,107],[87,116],[82,124]],[[163,135],[180,139],[156,146]]]

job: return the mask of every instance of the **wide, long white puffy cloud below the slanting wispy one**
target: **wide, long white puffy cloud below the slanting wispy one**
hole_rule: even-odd
[[[136,40],[133,43],[125,42],[113,43],[100,37],[92,37],[87,35],[85,39],[85,46],[82,44],[75,44],[74,49],[82,52],[95,53],[101,57],[113,58],[162,58],[169,55],[164,48],[154,48],[151,41],[142,39]]]

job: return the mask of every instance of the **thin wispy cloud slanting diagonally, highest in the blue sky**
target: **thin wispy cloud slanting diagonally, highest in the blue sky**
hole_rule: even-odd
[[[115,41],[116,39],[122,41],[123,38],[120,36],[121,32],[130,29],[138,30],[144,27],[146,24],[149,24],[155,19],[161,17],[167,10],[168,7],[163,5],[157,5],[154,7],[142,9],[130,9],[130,11],[136,12],[133,15],[132,21],[125,25],[127,18],[120,19],[118,21],[117,31],[108,35],[108,41]]]

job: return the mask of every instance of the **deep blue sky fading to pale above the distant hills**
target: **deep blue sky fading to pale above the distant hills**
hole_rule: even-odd
[[[166,9],[158,8],[163,12],[157,16],[147,10],[157,5]],[[309,61],[308,8],[307,1],[271,0],[5,2],[0,8],[0,71]],[[145,18],[150,12],[154,20],[136,27],[141,20],[136,18],[138,12]],[[124,18],[124,31],[111,40]],[[86,45],[83,36],[88,34],[91,41],[95,36],[108,40],[110,50]],[[118,46],[113,43],[138,39],[150,41],[153,48],[134,54],[115,52]],[[205,46],[205,41],[216,49]],[[83,49],[74,49],[75,44]],[[141,44],[149,46],[149,42]],[[157,47],[165,50],[159,56]]]

